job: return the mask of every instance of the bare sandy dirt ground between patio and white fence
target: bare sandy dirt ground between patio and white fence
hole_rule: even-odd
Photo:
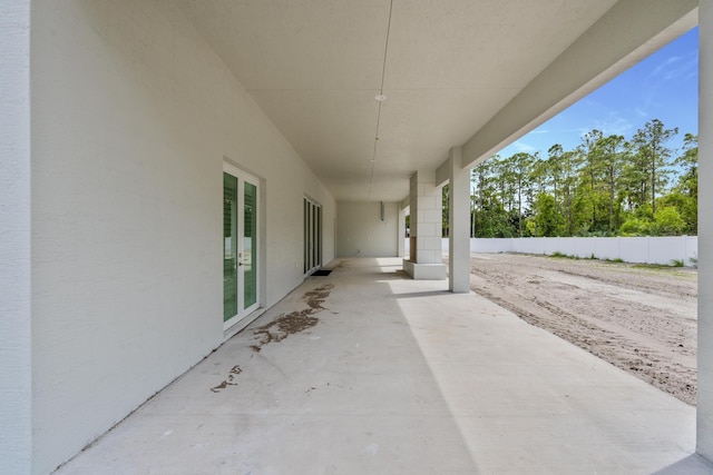
[[[697,271],[478,254],[475,293],[695,405]]]

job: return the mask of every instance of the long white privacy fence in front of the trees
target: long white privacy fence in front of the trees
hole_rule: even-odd
[[[448,238],[443,239],[442,249],[448,251]],[[683,260],[685,266],[692,266],[699,257],[699,238],[697,236],[472,238],[470,251],[545,255],[561,253],[582,258],[594,256],[597,259],[622,259],[626,263],[643,264],[672,264],[674,260]]]

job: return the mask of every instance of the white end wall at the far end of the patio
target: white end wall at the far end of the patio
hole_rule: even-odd
[[[398,255],[399,204],[339,201],[336,255],[339,257],[391,257]]]

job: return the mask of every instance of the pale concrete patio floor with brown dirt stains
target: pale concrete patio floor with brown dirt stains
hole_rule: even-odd
[[[400,259],[328,268],[57,474],[713,472],[674,397]]]

